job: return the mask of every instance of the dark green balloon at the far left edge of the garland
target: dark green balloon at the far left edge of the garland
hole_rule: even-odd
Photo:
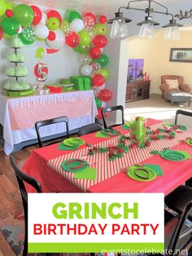
[[[16,35],[19,31],[20,24],[14,18],[4,18],[2,20],[2,30],[9,36]]]

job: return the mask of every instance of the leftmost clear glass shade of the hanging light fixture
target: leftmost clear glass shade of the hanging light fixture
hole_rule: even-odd
[[[125,20],[113,20],[111,27],[111,38],[126,38],[128,36],[128,29]]]

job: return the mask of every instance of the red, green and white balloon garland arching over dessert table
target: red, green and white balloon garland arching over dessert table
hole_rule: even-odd
[[[77,11],[66,11],[62,19],[59,11],[41,11],[37,6],[19,4],[0,0],[0,40],[19,36],[25,45],[31,45],[36,40],[46,41],[48,49],[37,49],[38,60],[44,54],[59,51],[64,44],[80,54],[80,73],[92,77],[92,89],[98,107],[98,117],[101,109],[111,100],[111,90],[106,89],[105,81],[109,71],[107,55],[103,48],[107,46],[107,17],[96,17],[86,12],[82,15]]]

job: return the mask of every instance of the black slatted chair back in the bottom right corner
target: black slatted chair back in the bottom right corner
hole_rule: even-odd
[[[192,208],[192,201],[190,201],[185,206],[185,209],[183,210],[183,212],[181,214],[181,218],[179,219],[179,222],[177,223],[177,227],[175,228],[175,230],[172,234],[172,238],[169,242],[168,249],[167,249],[168,254],[166,254],[166,255],[171,255],[171,256],[178,255],[178,254],[176,254],[176,249],[177,249],[177,244],[181,239],[184,239],[185,237],[189,238],[189,239],[187,239],[187,241],[185,241],[185,245],[182,245],[182,249],[185,249],[186,245],[188,245],[191,242],[191,234],[192,234],[191,227],[190,227],[189,232],[185,232],[181,236],[181,232],[183,230],[185,220],[186,220],[191,208]]]

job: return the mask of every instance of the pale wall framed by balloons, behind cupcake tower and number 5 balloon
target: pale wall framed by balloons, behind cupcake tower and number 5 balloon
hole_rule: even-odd
[[[7,51],[10,51],[10,44],[10,39],[2,40],[0,42],[0,90],[2,90],[4,82],[7,80],[7,77],[5,76],[5,69],[8,65],[10,65],[10,63],[6,60],[6,55]],[[35,52],[38,47],[42,46],[48,48],[45,42],[34,42],[33,45],[24,46],[24,48],[21,50],[25,55],[26,61],[24,64],[28,68],[28,77],[24,77],[22,79],[32,85],[37,83],[37,78],[33,74],[33,68],[35,64],[38,63],[37,59],[35,58]],[[55,54],[45,55],[44,62],[49,68],[46,83],[56,82],[59,80],[59,78],[78,74],[79,67],[81,65],[78,61],[78,54],[66,45]]]

